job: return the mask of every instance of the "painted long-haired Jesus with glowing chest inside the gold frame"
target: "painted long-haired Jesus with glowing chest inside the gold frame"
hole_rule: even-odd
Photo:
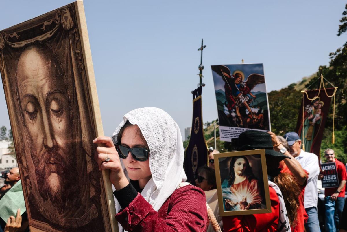
[[[261,187],[245,156],[234,156],[230,162],[229,179],[222,183],[225,210],[266,208],[262,205]],[[247,199],[247,196],[252,196]]]

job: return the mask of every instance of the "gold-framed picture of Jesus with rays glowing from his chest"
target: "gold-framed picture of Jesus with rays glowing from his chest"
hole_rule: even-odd
[[[264,149],[214,154],[214,164],[221,216],[271,213]]]

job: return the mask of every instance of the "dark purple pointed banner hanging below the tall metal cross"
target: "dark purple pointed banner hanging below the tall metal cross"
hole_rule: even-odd
[[[194,176],[197,169],[207,165],[208,147],[205,141],[204,128],[202,123],[202,86],[193,91],[193,122],[192,132],[188,146],[185,150],[184,170],[187,175],[187,182],[195,185]]]

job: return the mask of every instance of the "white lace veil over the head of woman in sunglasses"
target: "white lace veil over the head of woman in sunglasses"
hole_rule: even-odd
[[[183,170],[184,149],[181,132],[168,113],[159,108],[145,107],[124,115],[123,121],[112,135],[113,142],[117,142],[119,130],[127,121],[139,127],[149,146],[152,178],[141,195],[158,211],[177,186],[187,180]],[[120,160],[122,163],[122,159]],[[129,180],[123,163],[122,167]],[[118,213],[120,205],[116,198],[115,205]],[[120,225],[119,227],[121,229]]]

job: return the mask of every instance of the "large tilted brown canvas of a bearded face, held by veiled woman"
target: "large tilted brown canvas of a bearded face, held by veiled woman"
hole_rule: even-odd
[[[118,231],[83,1],[0,31],[0,71],[30,231]]]

